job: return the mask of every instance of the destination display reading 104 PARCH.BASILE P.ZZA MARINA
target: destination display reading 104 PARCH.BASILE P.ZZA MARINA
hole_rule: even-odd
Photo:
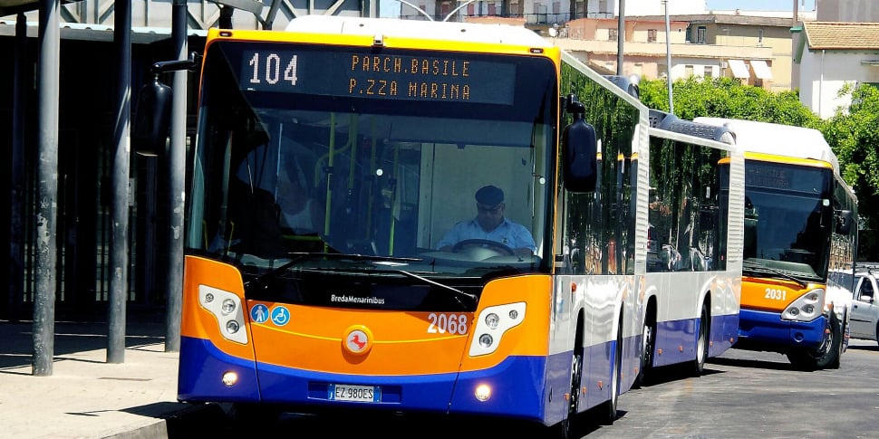
[[[245,50],[239,86],[270,91],[380,100],[512,105],[516,64],[460,53],[377,54],[314,50]]]

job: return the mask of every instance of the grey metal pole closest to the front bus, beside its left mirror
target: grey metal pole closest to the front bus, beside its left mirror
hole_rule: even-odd
[[[174,0],[171,13],[171,39],[177,59],[186,60],[186,0]],[[171,104],[171,141],[168,154],[168,309],[165,331],[165,352],[180,350],[180,311],[183,302],[183,209],[186,181],[186,76],[188,71],[174,72]]]

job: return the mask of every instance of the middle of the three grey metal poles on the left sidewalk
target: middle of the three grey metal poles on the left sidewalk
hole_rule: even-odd
[[[125,305],[128,303],[129,168],[131,152],[131,0],[116,0],[113,49],[116,52],[116,126],[113,138],[113,224],[107,362],[125,361]]]

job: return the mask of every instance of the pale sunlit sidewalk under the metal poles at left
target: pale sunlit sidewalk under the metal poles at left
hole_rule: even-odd
[[[177,401],[179,353],[165,351],[163,319],[127,322],[121,363],[107,361],[106,322],[54,325],[52,374],[38,377],[33,323],[0,320],[0,436],[188,437],[183,416],[219,410]]]

